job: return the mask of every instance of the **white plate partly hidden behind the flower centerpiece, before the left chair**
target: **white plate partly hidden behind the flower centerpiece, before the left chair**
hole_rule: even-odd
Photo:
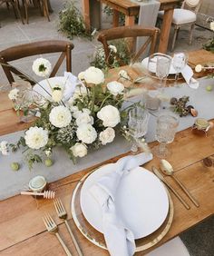
[[[64,76],[54,76],[48,79],[44,79],[43,81],[39,82],[39,84],[35,84],[34,91],[44,96],[44,98],[50,100],[51,99],[50,94],[52,94],[50,85],[52,86],[52,88],[56,85],[59,85],[63,89],[63,87],[65,86],[65,83],[70,83],[70,82],[69,80],[66,81],[66,78]],[[49,94],[46,93],[45,90]]]

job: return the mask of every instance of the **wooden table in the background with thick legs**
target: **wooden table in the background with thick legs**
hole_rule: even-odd
[[[102,4],[108,5],[113,10],[113,26],[119,25],[119,14],[125,15],[125,25],[134,25],[135,16],[139,15],[140,5],[131,2],[131,0],[98,0]],[[160,44],[158,48],[159,53],[165,54],[167,52],[170,27],[173,18],[174,8],[178,6],[181,0],[159,0],[160,10],[164,11],[162,25],[160,27]],[[99,13],[94,13],[96,0],[82,0],[83,5],[83,19],[87,28],[92,25],[92,17],[100,20]],[[91,5],[90,5],[91,4]],[[97,8],[99,11],[99,8]],[[98,24],[100,21],[98,22]],[[99,26],[99,25],[98,25]]]

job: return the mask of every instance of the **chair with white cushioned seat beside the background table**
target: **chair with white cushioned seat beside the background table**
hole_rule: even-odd
[[[184,0],[180,8],[174,9],[172,20],[172,25],[174,25],[174,34],[171,44],[171,51],[174,50],[175,41],[176,38],[178,37],[181,25],[190,25],[189,44],[192,43],[192,33],[201,3],[201,0]],[[160,11],[158,18],[162,19],[162,17],[163,11]]]

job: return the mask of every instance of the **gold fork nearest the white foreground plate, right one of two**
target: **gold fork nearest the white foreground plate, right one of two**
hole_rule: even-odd
[[[60,219],[63,219],[63,221],[64,221],[64,223],[65,223],[65,225],[66,225],[66,228],[68,229],[68,231],[69,231],[69,233],[70,233],[70,235],[71,235],[71,237],[72,237],[72,240],[73,240],[73,244],[74,244],[74,246],[75,246],[75,248],[76,248],[76,251],[78,252],[78,254],[80,255],[80,256],[83,256],[83,252],[81,251],[81,249],[80,249],[80,246],[79,246],[79,244],[78,244],[78,242],[76,241],[76,239],[75,239],[75,236],[74,236],[74,234],[73,234],[73,231],[71,230],[71,228],[70,228],[70,226],[69,226],[69,224],[68,224],[68,222],[67,222],[67,212],[65,211],[65,209],[64,209],[64,207],[63,207],[63,202],[60,200],[60,199],[55,199],[54,201],[53,201],[53,203],[54,203],[54,206],[55,206],[55,211],[57,212],[57,214],[58,214],[58,217],[60,218]]]

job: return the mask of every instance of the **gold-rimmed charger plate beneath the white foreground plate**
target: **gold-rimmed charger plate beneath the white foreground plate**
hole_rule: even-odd
[[[96,171],[93,170],[92,172]],[[80,194],[81,194],[81,189],[83,186],[83,182],[87,179],[87,177],[92,173],[89,172],[86,175],[83,176],[83,178],[77,183],[74,191],[73,191],[73,197],[72,197],[72,202],[71,202],[71,210],[72,210],[72,215],[73,215],[73,221],[75,222],[77,228],[79,231],[82,232],[83,236],[91,241],[93,244],[96,246],[99,246],[102,249],[107,250],[106,243],[104,240],[104,236],[101,232],[95,230],[92,225],[86,221],[86,219],[83,216],[83,212],[81,209],[81,204],[80,204]],[[167,190],[165,187],[166,192],[168,194],[169,198],[169,212],[167,215],[166,220],[162,223],[160,228],[157,231],[152,232],[150,235],[135,240],[136,243],[136,251],[144,251],[155,244],[157,244],[170,230],[170,226],[173,220],[173,215],[174,215],[174,206],[173,202],[170,196],[170,192]]]

